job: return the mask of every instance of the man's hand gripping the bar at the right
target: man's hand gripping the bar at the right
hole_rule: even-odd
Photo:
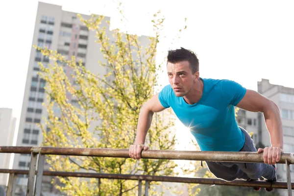
[[[257,153],[264,153],[264,162],[265,164],[274,165],[281,158],[281,153],[283,153],[283,149],[280,147],[265,147],[258,148]]]

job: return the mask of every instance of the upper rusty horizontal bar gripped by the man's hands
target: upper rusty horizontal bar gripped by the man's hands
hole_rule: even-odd
[[[129,158],[128,149],[112,148],[72,148],[72,147],[0,147],[0,153],[41,153],[51,155],[97,156]],[[180,150],[144,150],[142,158],[173,159],[219,162],[262,163],[263,154],[257,152],[224,152],[224,151],[180,151]],[[282,153],[278,163],[285,161],[294,164],[294,153]]]

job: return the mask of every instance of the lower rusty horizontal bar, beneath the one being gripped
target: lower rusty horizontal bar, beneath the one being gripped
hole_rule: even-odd
[[[28,171],[0,169],[0,173],[28,174]],[[190,177],[172,177],[172,176],[156,176],[156,175],[130,175],[130,174],[111,174],[111,173],[91,173],[91,172],[50,172],[50,171],[44,171],[43,175],[61,176],[61,177],[147,180],[147,181],[161,181],[161,182],[180,182],[180,183],[193,183],[193,184],[215,184],[215,185],[225,185],[225,186],[270,188],[270,183],[266,181],[234,180],[229,182],[229,181],[224,181],[221,179],[198,178],[198,177],[190,178]],[[287,182],[274,182],[271,187],[275,189],[287,189]],[[292,189],[294,189],[294,183],[292,183]]]

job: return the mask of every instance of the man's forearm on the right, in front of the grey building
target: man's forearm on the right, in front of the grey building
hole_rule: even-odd
[[[264,111],[265,121],[270,133],[271,146],[283,149],[283,127],[279,108],[275,103],[271,103],[270,107]]]

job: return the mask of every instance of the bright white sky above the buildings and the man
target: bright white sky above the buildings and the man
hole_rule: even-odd
[[[101,14],[118,24],[112,0],[43,0],[63,10]],[[171,37],[187,17],[188,28],[172,48],[184,47],[198,54],[200,76],[226,78],[257,90],[257,81],[294,88],[293,0],[122,0],[129,32],[149,34],[150,14],[161,9],[165,34]],[[0,107],[13,109],[19,123],[37,0],[3,1],[0,6]],[[169,41],[159,46],[166,55]],[[162,53],[163,52],[163,53]],[[164,84],[168,78],[162,76]],[[17,123],[17,129],[18,129]]]

